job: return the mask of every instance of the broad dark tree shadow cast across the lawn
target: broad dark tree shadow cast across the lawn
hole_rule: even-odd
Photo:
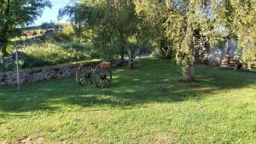
[[[195,66],[199,82],[180,82],[177,66],[168,60],[142,60],[137,69],[119,67],[109,89],[80,87],[74,78],[28,84],[20,94],[0,89],[0,111],[54,111],[61,107],[121,107],[150,102],[201,100],[225,89],[256,87],[256,74]],[[256,88],[255,88],[256,89]]]

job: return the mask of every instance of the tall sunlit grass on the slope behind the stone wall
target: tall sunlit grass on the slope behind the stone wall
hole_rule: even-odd
[[[33,43],[20,49],[21,69],[38,66],[54,66],[98,58],[91,43]],[[13,64],[15,65],[15,64]],[[0,72],[11,71],[13,67],[0,64]]]

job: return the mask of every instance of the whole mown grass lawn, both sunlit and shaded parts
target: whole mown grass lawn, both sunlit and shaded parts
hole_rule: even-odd
[[[0,89],[0,142],[255,143],[256,73],[195,66],[179,81],[170,60],[119,67],[109,89],[74,78]]]

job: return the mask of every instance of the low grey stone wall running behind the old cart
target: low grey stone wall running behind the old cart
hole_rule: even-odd
[[[86,62],[84,64],[95,67],[100,62]],[[112,66],[119,66],[121,60],[111,61]],[[20,70],[20,84],[50,80],[55,78],[67,78],[75,75],[77,68],[81,64],[70,64],[60,66],[45,66],[38,68],[31,68]],[[17,84],[16,72],[0,72],[0,86],[15,85]]]

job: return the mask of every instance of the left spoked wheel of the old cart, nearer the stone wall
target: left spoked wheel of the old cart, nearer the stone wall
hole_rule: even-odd
[[[81,86],[93,84],[93,71],[90,65],[83,64],[79,66],[76,72],[76,80]]]

